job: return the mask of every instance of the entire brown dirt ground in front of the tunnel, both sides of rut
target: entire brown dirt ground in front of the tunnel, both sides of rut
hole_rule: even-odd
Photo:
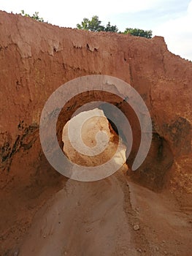
[[[169,193],[127,184],[121,172],[69,180],[36,215],[19,255],[191,256],[190,215]]]

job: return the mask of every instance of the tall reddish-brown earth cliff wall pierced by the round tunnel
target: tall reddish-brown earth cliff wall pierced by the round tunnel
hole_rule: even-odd
[[[63,177],[50,167],[42,153],[39,118],[50,94],[82,75],[111,75],[139,92],[150,110],[153,143],[143,165],[136,172],[129,170],[128,176],[154,191],[169,189],[180,198],[183,207],[189,207],[180,195],[183,192],[187,197],[191,192],[190,61],[170,53],[162,37],[145,39],[64,29],[6,12],[0,12],[0,34],[3,251],[8,248],[9,234],[16,232],[23,220],[22,213],[17,214],[20,205],[28,214],[27,228],[37,205],[54,189],[58,190]],[[93,91],[69,100],[58,119],[58,141],[62,146],[62,129],[74,110],[86,102],[102,99],[123,110],[134,128],[134,146],[127,161],[131,166],[139,148],[139,123],[126,102],[114,95]],[[30,202],[28,198],[32,198]],[[7,215],[10,206],[17,219],[12,219],[12,210]],[[3,222],[9,222],[8,229]],[[18,241],[23,232],[20,230]]]

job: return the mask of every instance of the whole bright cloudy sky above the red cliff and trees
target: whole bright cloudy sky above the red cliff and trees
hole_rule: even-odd
[[[0,0],[0,10],[39,12],[45,21],[71,28],[98,15],[103,25],[110,21],[120,31],[151,29],[153,36],[165,38],[172,53],[192,61],[192,0]]]

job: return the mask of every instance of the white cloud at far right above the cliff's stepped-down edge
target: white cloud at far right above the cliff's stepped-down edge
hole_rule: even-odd
[[[164,36],[172,53],[192,61],[192,1],[185,15],[168,20],[153,29],[153,34]]]

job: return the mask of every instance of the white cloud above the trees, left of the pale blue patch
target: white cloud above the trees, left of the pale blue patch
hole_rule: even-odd
[[[55,0],[55,1],[25,1],[25,0],[1,0],[1,10],[8,12],[20,12],[32,14],[39,12],[45,20],[59,26],[76,27],[82,18],[91,18],[93,15],[99,15],[101,20],[106,16],[117,13],[140,12],[160,7],[171,3],[174,0]]]

